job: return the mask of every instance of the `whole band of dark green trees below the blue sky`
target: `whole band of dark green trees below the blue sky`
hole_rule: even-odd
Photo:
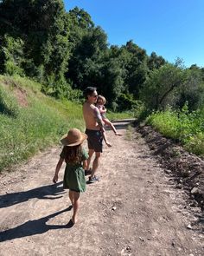
[[[131,40],[109,47],[86,10],[67,13],[61,0],[1,1],[0,44],[0,73],[29,76],[57,99],[80,102],[81,91],[94,86],[108,108],[136,108],[140,117],[168,105],[181,109],[186,101],[189,110],[204,104],[204,69],[148,56]]]

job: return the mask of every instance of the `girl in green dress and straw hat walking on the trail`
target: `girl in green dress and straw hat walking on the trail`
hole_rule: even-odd
[[[72,224],[77,222],[77,213],[80,207],[80,192],[86,190],[86,180],[84,169],[86,168],[86,159],[88,154],[81,147],[83,141],[85,141],[87,135],[81,133],[79,129],[72,128],[67,135],[61,138],[61,143],[64,145],[60,160],[55,168],[53,182],[58,181],[58,174],[61,169],[63,161],[66,162],[65,174],[63,180],[63,187],[69,188],[69,199],[73,206],[73,216],[69,221]]]

